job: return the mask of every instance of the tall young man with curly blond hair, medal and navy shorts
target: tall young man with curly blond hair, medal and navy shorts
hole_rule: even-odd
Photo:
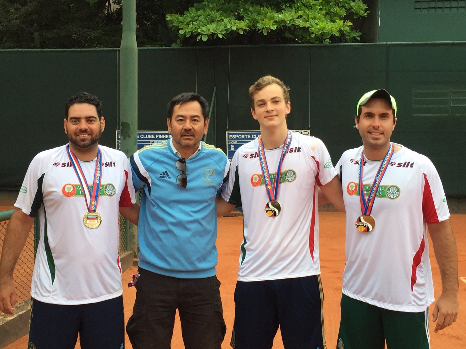
[[[243,242],[231,345],[270,349],[280,326],[286,349],[326,348],[317,188],[342,201],[322,141],[288,130],[289,87],[267,75],[249,88],[260,137],[234,154],[217,214],[242,206]]]

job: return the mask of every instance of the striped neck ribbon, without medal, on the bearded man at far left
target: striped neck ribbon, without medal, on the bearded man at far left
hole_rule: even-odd
[[[97,162],[96,170],[94,171],[94,180],[92,182],[92,193],[89,192],[89,186],[86,181],[86,176],[82,172],[81,165],[79,164],[78,159],[75,154],[69,149],[69,145],[66,147],[68,153],[69,162],[73,169],[75,170],[76,177],[78,177],[79,183],[81,184],[82,192],[84,194],[84,199],[86,200],[86,207],[88,211],[96,211],[97,203],[99,201],[99,192],[100,192],[100,179],[102,178],[102,153],[100,149],[97,151]]]

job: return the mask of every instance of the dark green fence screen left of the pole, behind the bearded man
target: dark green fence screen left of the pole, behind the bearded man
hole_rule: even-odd
[[[0,51],[0,188],[18,189],[41,150],[65,144],[65,103],[79,91],[103,102],[114,145],[117,126],[117,50]]]

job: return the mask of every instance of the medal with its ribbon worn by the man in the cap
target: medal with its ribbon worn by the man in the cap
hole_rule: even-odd
[[[382,178],[385,175],[385,171],[387,170],[387,165],[390,163],[391,157],[393,155],[393,149],[395,147],[392,143],[390,143],[390,148],[388,148],[387,154],[385,154],[384,160],[380,163],[380,166],[377,170],[377,175],[374,178],[372,186],[370,188],[369,195],[364,195],[364,188],[363,188],[363,164],[364,164],[364,150],[361,152],[361,157],[359,158],[359,201],[361,203],[361,212],[360,215],[356,220],[356,229],[360,232],[370,232],[374,229],[376,225],[376,221],[374,217],[370,215],[372,212],[372,208],[374,208],[374,201],[376,199],[377,189],[382,181]]]

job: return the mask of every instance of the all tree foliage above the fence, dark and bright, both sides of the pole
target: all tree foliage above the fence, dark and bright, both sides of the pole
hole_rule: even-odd
[[[0,49],[119,47],[122,0],[0,0]],[[138,46],[351,42],[361,0],[136,0]],[[176,13],[184,13],[183,15]]]

